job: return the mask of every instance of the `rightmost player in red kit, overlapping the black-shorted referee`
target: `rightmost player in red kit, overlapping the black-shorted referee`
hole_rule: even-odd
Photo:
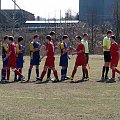
[[[117,42],[115,42],[116,38],[114,35],[112,35],[110,37],[110,41],[111,41],[111,47],[110,47],[110,55],[111,55],[111,63],[110,63],[110,67],[112,69],[112,78],[109,79],[108,81],[106,81],[107,83],[112,83],[115,82],[115,73],[119,73],[120,74],[120,70],[118,70],[116,67],[118,65],[118,61],[119,61],[119,45]],[[120,79],[120,77],[119,77]]]

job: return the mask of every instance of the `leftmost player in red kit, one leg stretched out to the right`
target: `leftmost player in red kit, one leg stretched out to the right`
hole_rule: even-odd
[[[7,79],[9,80],[10,76],[10,68],[12,68],[12,71],[17,74],[21,80],[23,81],[25,77],[17,70],[16,60],[17,60],[17,53],[16,53],[16,45],[14,44],[14,38],[12,36],[9,36],[8,44],[8,54],[4,58],[6,60],[8,58],[8,71],[7,71]]]

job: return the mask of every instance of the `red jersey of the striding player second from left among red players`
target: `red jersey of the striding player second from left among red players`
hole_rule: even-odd
[[[54,44],[53,44],[53,42],[50,42],[46,46],[46,51],[47,51],[47,57],[48,58],[54,57]]]

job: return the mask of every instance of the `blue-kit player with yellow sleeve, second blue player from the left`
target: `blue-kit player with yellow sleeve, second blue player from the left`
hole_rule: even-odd
[[[23,42],[23,37],[22,36],[18,37],[18,44],[16,44],[16,52],[17,52],[16,62],[17,62],[17,69],[19,70],[20,73],[22,73],[22,68],[24,63],[23,54],[25,50],[25,47],[22,45],[22,42]],[[17,79],[17,74],[15,74],[14,81],[21,81],[21,78],[19,77]]]

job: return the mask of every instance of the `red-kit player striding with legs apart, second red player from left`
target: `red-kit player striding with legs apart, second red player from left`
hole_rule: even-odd
[[[47,35],[46,39],[45,39],[45,43],[46,43],[46,56],[47,56],[47,58],[46,58],[46,61],[45,61],[45,65],[44,65],[44,69],[43,69],[43,72],[41,74],[41,77],[38,80],[42,81],[44,76],[45,76],[45,74],[46,74],[46,71],[48,69],[51,69],[51,70],[53,70],[53,74],[55,76],[55,80],[53,82],[58,82],[59,81],[58,74],[57,74],[57,71],[55,69],[55,63],[54,63],[55,62],[54,44],[53,44],[53,42],[51,40],[52,40],[51,36]]]

